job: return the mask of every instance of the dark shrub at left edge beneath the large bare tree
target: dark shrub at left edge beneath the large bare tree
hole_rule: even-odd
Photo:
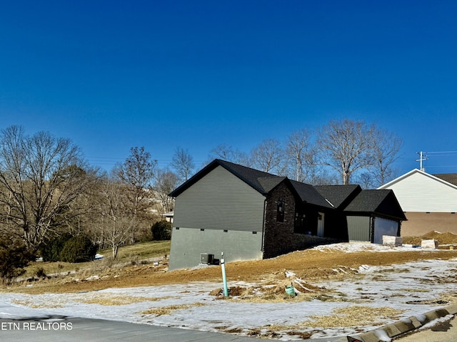
[[[34,255],[29,252],[24,242],[11,234],[0,234],[0,277],[2,284],[10,284],[12,279],[25,273],[24,267]]]

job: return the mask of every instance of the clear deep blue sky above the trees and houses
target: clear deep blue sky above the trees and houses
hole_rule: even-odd
[[[71,138],[111,168],[144,146],[196,164],[222,143],[328,120],[456,151],[456,1],[1,1],[1,128]],[[431,173],[457,153],[430,154]]]

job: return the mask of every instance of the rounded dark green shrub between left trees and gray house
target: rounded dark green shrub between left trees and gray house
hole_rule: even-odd
[[[91,261],[95,259],[97,249],[97,245],[93,244],[89,237],[84,235],[71,237],[65,242],[60,252],[60,259],[66,262]]]

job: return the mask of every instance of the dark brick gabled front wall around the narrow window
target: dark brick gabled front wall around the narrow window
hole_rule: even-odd
[[[277,202],[285,204],[284,221],[276,221]],[[296,234],[293,232],[295,219],[295,198],[291,190],[281,183],[266,198],[265,235],[263,242],[263,258],[277,257],[281,254],[306,249],[318,244],[336,242],[335,239],[321,238],[314,235]]]

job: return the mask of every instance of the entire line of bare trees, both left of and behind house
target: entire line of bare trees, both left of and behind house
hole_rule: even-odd
[[[250,152],[219,145],[221,158],[309,184],[374,187],[391,180],[401,140],[361,121],[331,121],[316,131],[263,140]],[[124,244],[169,239],[161,214],[168,194],[194,174],[188,150],[177,148],[159,169],[144,147],[110,172],[89,165],[79,147],[51,133],[26,135],[11,126],[0,135],[0,276],[4,284],[29,260],[83,261],[97,248],[116,258]],[[173,171],[172,171],[173,170]],[[86,254],[87,251],[91,251]]]

